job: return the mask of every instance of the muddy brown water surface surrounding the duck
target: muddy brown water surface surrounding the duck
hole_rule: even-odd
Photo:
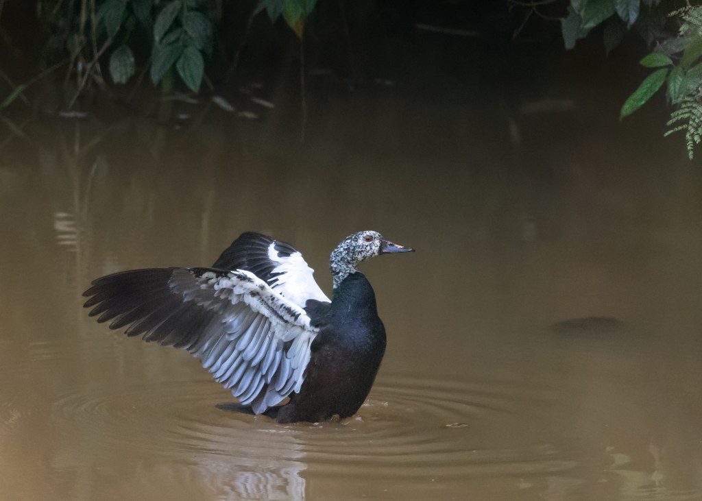
[[[702,497],[702,169],[682,140],[618,123],[606,71],[505,98],[480,68],[390,69],[312,83],[302,144],[299,103],[264,86],[256,121],[46,117],[4,147],[1,498]],[[363,266],[388,351],[338,422],[218,410],[186,352],[81,307],[95,276],[208,265],[246,230],[329,292],[359,229],[418,252]]]

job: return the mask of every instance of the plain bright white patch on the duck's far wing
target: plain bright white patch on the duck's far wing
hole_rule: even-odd
[[[279,263],[272,271],[279,275],[273,279],[271,287],[286,299],[301,307],[304,307],[309,299],[331,302],[314,281],[314,269],[307,265],[300,252],[279,256],[275,249],[275,242],[272,242],[268,246],[268,258],[272,262]]]

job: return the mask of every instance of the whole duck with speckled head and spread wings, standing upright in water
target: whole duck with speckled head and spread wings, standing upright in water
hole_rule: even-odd
[[[357,266],[410,250],[378,232],[347,236],[331,253],[329,300],[298,250],[247,232],[210,268],[96,279],[85,306],[112,329],[187,349],[239,399],[221,408],[319,422],[357,412],[385,352],[376,297]]]

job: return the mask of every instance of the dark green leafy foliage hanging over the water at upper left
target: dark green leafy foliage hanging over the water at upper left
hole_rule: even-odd
[[[12,0],[0,0],[0,15],[5,1]],[[315,3],[260,1],[249,9],[244,30],[256,15],[267,13],[272,23],[283,18],[301,38],[305,18]],[[140,85],[146,75],[164,93],[173,91],[176,76],[192,93],[199,93],[203,80],[211,89],[206,62],[213,67],[236,62],[238,56],[227,58],[225,39],[218,33],[218,28],[227,28],[223,8],[223,0],[37,0],[38,58],[44,72],[14,83],[10,69],[0,67],[2,78],[11,86],[0,109],[23,98],[32,83],[55,71],[62,73],[65,86],[72,91],[66,109],[72,109],[88,88],[112,93],[116,86]],[[13,43],[8,36],[4,39]]]

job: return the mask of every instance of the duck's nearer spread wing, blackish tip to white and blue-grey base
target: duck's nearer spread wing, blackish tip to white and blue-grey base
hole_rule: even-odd
[[[257,414],[299,392],[317,335],[304,309],[245,270],[137,269],[84,295],[98,322],[187,349]]]

